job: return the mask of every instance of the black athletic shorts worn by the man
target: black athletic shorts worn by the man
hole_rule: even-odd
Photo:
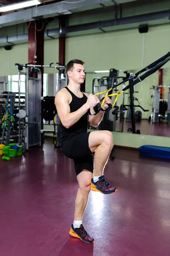
[[[83,169],[93,172],[93,153],[89,149],[89,134],[90,132],[86,132],[72,136],[61,145],[66,157],[74,161],[76,175]]]

